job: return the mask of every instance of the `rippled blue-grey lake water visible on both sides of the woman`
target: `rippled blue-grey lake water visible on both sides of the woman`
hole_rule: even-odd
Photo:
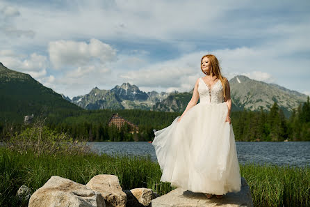
[[[147,141],[88,142],[98,153],[113,155],[151,155],[157,161],[154,146]],[[247,142],[236,141],[240,164],[254,162],[258,164],[289,164],[302,167],[310,165],[310,141],[287,142]]]

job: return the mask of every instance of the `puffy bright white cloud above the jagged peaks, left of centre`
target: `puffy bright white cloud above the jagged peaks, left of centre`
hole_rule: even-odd
[[[104,64],[113,61],[116,49],[92,38],[90,43],[72,40],[58,40],[49,43],[49,59],[54,68],[88,65],[94,62]]]

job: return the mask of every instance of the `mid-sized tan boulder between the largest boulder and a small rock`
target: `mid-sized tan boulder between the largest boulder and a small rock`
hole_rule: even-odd
[[[127,195],[122,191],[118,177],[101,174],[90,179],[86,184],[92,190],[97,190],[106,200],[106,206],[125,207]]]

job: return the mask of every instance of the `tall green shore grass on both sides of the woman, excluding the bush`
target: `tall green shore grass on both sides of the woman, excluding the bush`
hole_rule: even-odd
[[[310,206],[310,166],[240,164],[250,186],[254,206]],[[97,174],[115,174],[123,190],[152,188],[166,194],[173,188],[160,182],[161,169],[149,155],[40,155],[16,153],[0,147],[0,206],[21,206],[15,194],[21,185],[32,193],[58,175],[86,184]]]

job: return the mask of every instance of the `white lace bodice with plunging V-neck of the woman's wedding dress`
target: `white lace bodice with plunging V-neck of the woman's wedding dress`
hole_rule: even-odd
[[[209,89],[204,80],[200,77],[198,84],[199,99],[202,103],[221,103],[223,102],[223,86],[220,79]]]

